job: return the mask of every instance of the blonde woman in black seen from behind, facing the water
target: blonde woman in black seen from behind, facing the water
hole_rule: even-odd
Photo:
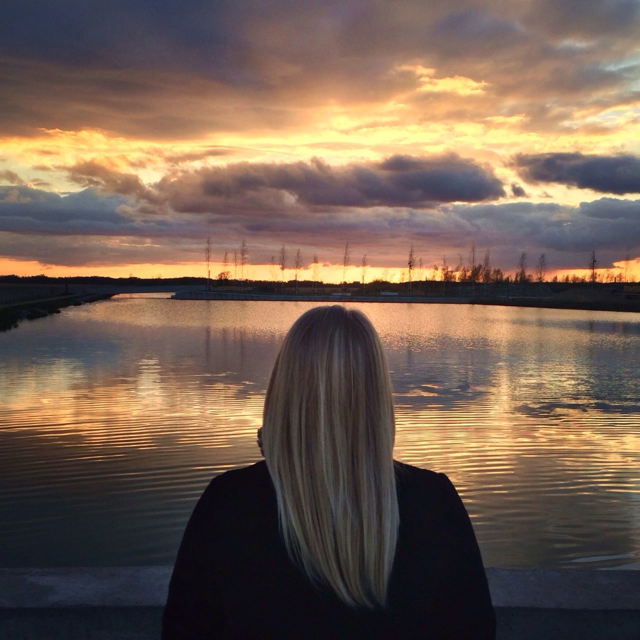
[[[387,362],[364,314],[294,323],[260,431],[265,461],[214,478],[193,511],[163,639],[495,636],[458,493],[392,458]]]

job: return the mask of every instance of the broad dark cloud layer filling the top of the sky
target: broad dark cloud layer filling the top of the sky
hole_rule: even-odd
[[[0,127],[193,138],[402,96],[404,122],[427,101],[432,118],[525,113],[557,129],[630,99],[638,28],[632,0],[14,3],[0,22]],[[451,94],[412,97],[420,81],[403,63],[486,90],[454,108]]]

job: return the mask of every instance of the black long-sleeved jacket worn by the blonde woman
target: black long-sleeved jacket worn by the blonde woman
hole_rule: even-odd
[[[173,568],[163,640],[495,637],[467,511],[444,474],[396,463],[400,529],[387,610],[351,608],[287,556],[266,463],[211,481]]]

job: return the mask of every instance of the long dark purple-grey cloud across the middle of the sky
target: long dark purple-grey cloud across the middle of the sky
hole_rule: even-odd
[[[166,202],[180,212],[331,211],[336,208],[432,207],[440,202],[481,202],[504,196],[493,171],[455,154],[392,156],[380,163],[331,166],[321,159],[296,163],[235,163],[170,173],[147,188],[128,174],[88,166],[83,184]],[[111,172],[113,174],[113,172]]]

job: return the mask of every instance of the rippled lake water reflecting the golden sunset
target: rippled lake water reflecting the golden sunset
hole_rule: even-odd
[[[118,296],[0,334],[0,566],[170,564],[255,431],[310,303]],[[445,472],[487,566],[640,568],[640,317],[353,305],[387,347],[396,458]]]

